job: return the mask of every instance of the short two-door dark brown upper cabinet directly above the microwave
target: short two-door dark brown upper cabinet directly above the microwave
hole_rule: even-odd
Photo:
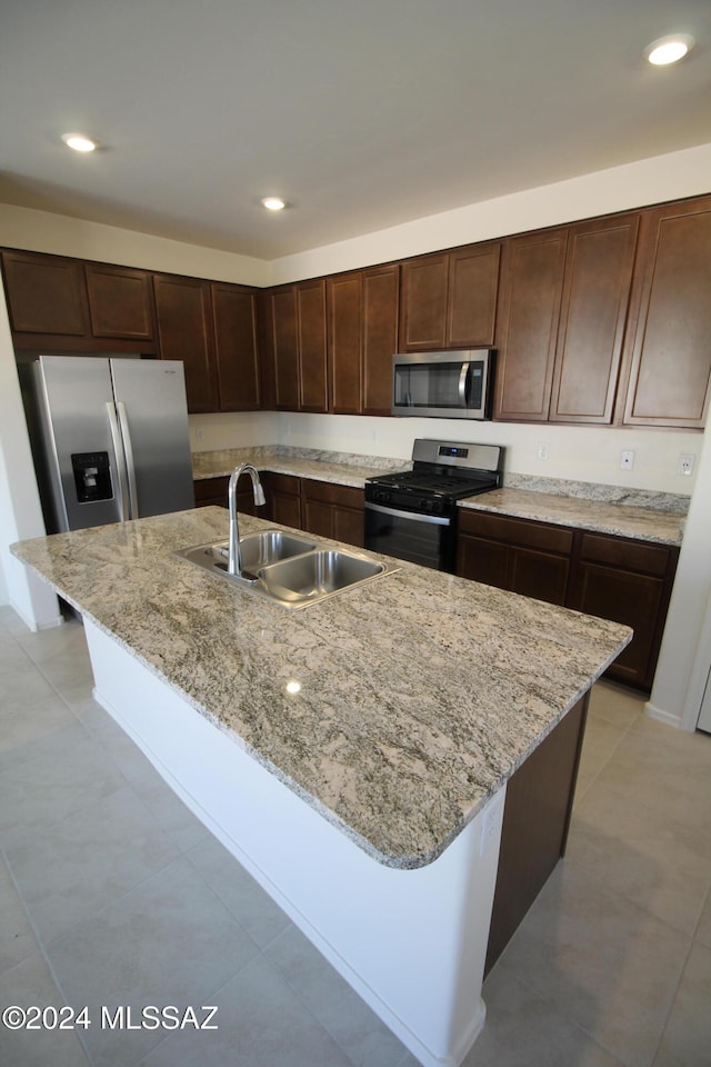
[[[400,351],[491,346],[501,242],[402,263]]]

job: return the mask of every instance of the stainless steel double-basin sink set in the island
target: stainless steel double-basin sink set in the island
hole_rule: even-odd
[[[227,541],[198,545],[176,556],[284,608],[304,608],[398,570],[395,565],[283,530],[247,534],[240,538],[240,550],[241,575],[228,572]]]

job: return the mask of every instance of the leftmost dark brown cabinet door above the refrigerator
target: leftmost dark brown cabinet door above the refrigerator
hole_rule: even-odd
[[[2,270],[13,333],[83,338],[91,332],[81,260],[3,251]]]

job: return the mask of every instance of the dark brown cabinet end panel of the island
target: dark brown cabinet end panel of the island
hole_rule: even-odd
[[[565,852],[589,699],[588,692],[507,785],[484,975]]]

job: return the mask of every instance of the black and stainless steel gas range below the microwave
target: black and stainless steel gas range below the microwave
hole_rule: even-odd
[[[412,468],[365,482],[365,548],[454,572],[457,501],[498,489],[504,448],[417,438]]]

